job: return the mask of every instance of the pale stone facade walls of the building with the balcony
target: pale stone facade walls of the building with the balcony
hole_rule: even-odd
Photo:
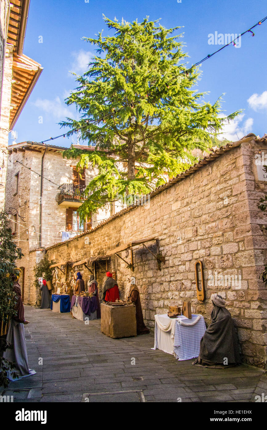
[[[15,152],[16,151],[16,152]],[[11,222],[12,230],[15,230],[14,241],[24,254],[19,267],[24,267],[24,303],[35,304],[39,292],[33,286],[33,267],[42,258],[43,252],[32,251],[39,249],[39,211],[40,211],[40,186],[41,161],[44,149],[30,151],[17,148],[9,154],[6,175],[6,199],[5,210],[10,207],[17,209],[18,214],[24,218],[23,221],[17,215],[17,224]],[[31,167],[32,171],[23,167]],[[72,183],[72,166],[76,166],[78,160],[66,160],[62,157],[62,151],[55,152],[48,149],[43,159],[44,179],[42,193],[42,233],[41,247],[43,249],[58,243],[61,240],[61,232],[66,230],[66,207],[61,207],[55,200],[59,190],[55,184]],[[18,192],[16,192],[15,175],[18,173]],[[93,178],[96,172],[93,169],[86,171],[85,183]],[[55,184],[53,184],[53,182]],[[15,214],[15,210],[12,209]],[[98,220],[108,218],[110,206],[100,210],[93,217],[93,226]]]

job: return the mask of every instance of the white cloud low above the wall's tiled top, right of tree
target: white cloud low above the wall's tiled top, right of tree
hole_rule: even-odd
[[[222,134],[220,134],[218,138],[220,140],[225,138],[231,141],[237,141],[237,136],[241,139],[248,133],[252,133],[253,118],[248,118],[244,123],[242,123],[244,116],[245,114],[237,115],[234,120],[229,123],[225,123],[222,127]]]

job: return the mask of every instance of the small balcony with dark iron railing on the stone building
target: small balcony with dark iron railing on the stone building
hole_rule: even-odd
[[[56,195],[56,201],[61,207],[78,208],[84,202],[85,185],[61,184]]]

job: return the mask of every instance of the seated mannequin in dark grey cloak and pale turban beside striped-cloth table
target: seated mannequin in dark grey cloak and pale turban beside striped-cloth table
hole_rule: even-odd
[[[192,364],[222,367],[241,363],[236,329],[231,313],[225,309],[225,300],[218,294],[212,294],[210,299],[214,306],[211,323],[200,341],[198,359]]]

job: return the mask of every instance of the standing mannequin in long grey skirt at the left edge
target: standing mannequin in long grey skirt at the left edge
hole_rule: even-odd
[[[26,376],[35,375],[35,370],[29,369],[27,348],[25,341],[24,324],[29,321],[24,319],[24,306],[21,297],[21,286],[18,283],[18,276],[12,276],[14,280],[13,290],[16,294],[15,310],[16,315],[10,321],[9,329],[6,335],[6,341],[11,344],[12,349],[7,349],[3,353],[3,358],[15,364],[14,370],[7,371],[9,381],[17,381]],[[13,378],[12,372],[15,372],[18,378]]]

